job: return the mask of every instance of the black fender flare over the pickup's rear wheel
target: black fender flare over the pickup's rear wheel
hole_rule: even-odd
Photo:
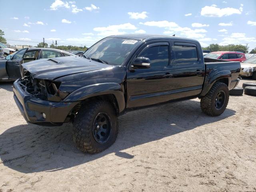
[[[228,79],[228,89],[230,88],[231,84],[231,72],[228,70],[220,71],[220,72],[213,72],[210,73],[209,76],[206,78],[206,81],[204,82],[204,88],[202,90],[202,93],[200,94],[199,98],[201,96],[205,96],[210,89],[212,88],[213,84],[223,78]]]

